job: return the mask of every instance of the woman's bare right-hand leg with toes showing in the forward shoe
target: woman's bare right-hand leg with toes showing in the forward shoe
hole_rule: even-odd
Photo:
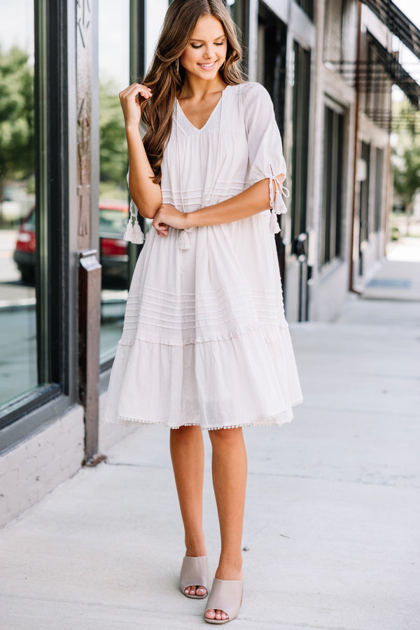
[[[213,485],[221,527],[219,580],[242,579],[241,540],[248,470],[241,428],[210,430],[213,446]],[[206,610],[207,619],[227,619],[222,610]]]

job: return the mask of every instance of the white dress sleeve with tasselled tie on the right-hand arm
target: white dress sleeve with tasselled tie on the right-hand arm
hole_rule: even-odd
[[[248,141],[248,185],[253,186],[262,179],[269,180],[270,229],[279,232],[276,214],[287,212],[282,195],[288,196],[288,190],[277,176],[283,174],[285,178],[287,169],[272,100],[259,83],[246,85],[244,118]]]

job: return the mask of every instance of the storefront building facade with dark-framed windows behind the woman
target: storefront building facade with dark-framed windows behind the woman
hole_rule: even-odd
[[[99,421],[139,255],[122,240],[118,92],[144,74],[167,4],[2,3],[0,524],[120,436]],[[286,316],[331,320],[384,255],[391,87],[416,109],[420,90],[393,42],[419,58],[420,34],[390,0],[227,5],[283,138]]]

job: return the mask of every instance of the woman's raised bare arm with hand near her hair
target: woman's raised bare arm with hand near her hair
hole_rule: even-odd
[[[153,182],[153,169],[139,132],[141,116],[139,94],[147,99],[151,97],[151,90],[145,85],[133,83],[120,92],[130,163],[128,187],[141,216],[153,218],[162,204],[162,190],[159,184]]]

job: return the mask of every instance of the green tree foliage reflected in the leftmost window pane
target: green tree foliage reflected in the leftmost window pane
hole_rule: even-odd
[[[0,48],[0,186],[34,172],[34,68],[27,52]]]

